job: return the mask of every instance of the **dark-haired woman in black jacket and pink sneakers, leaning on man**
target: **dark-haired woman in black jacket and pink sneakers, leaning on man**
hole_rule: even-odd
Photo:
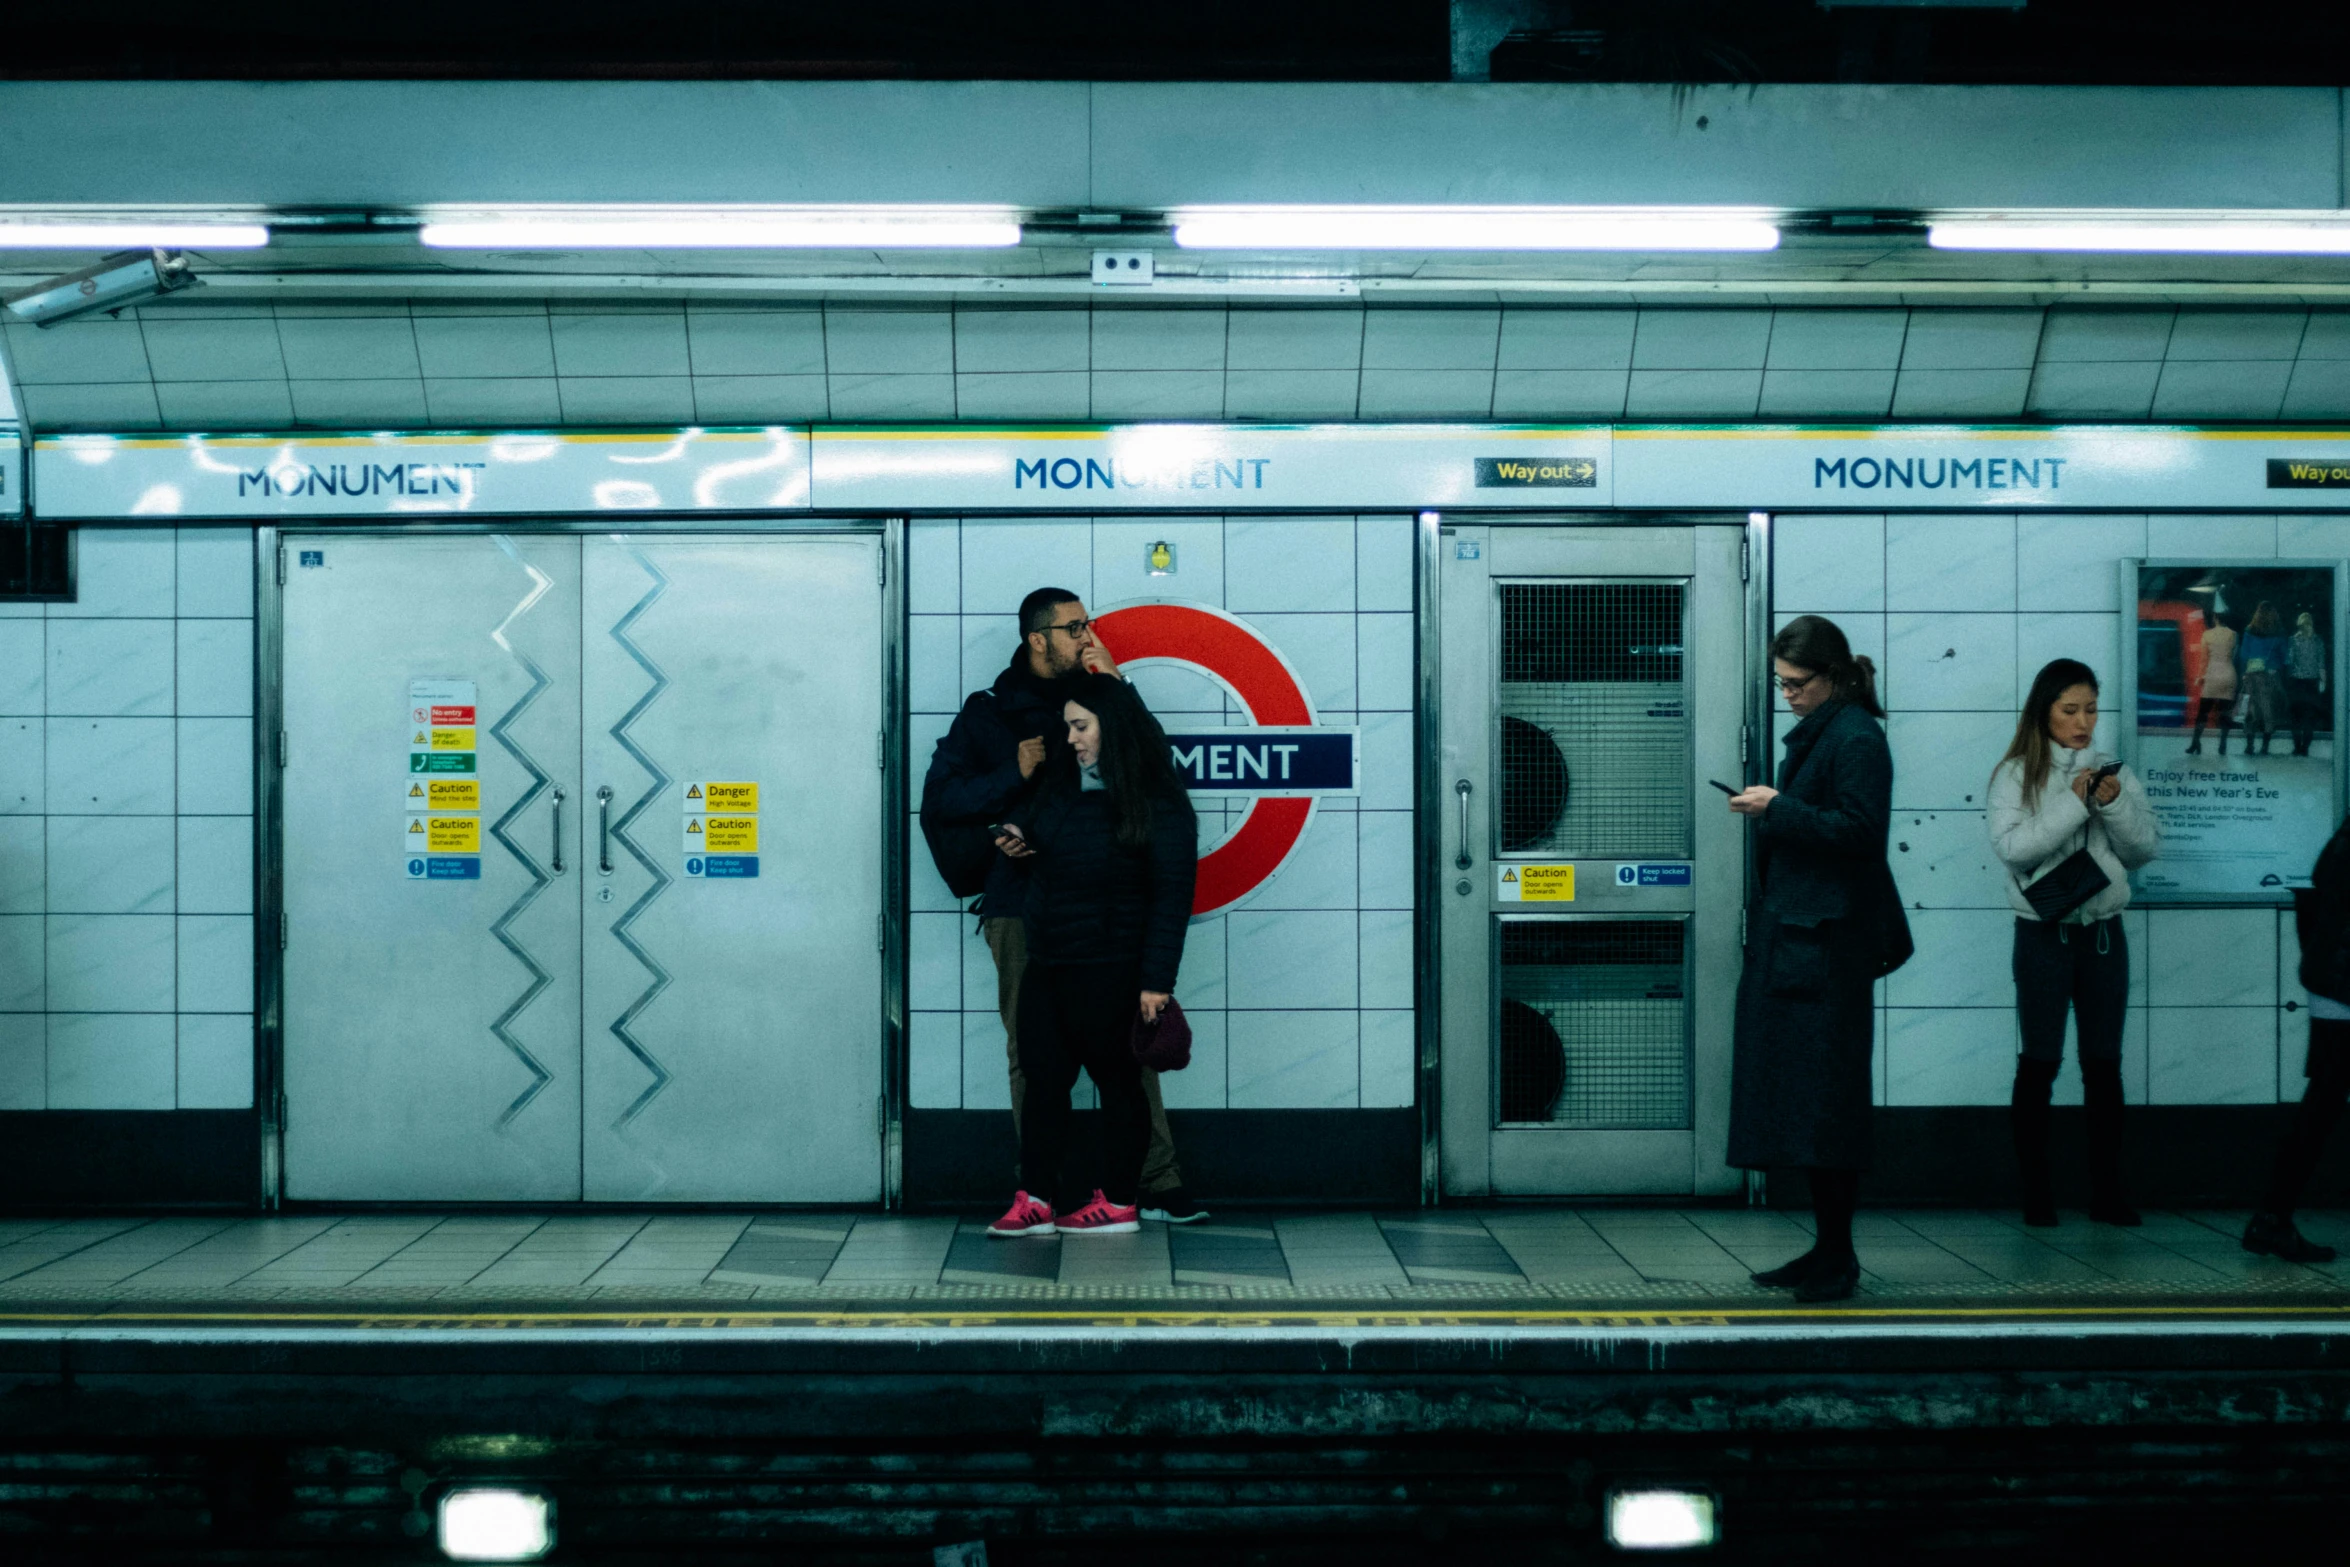
[[[1022,1189],[992,1236],[1140,1229],[1135,1193],[1152,1121],[1133,1031],[1137,1017],[1156,1022],[1175,991],[1198,874],[1198,818],[1159,719],[1114,674],[1076,674],[1062,691],[1069,745],[996,836],[1006,855],[1034,855],[1036,872],[1018,1029]],[[1079,1069],[1102,1095],[1090,1201],[1062,1168]]]

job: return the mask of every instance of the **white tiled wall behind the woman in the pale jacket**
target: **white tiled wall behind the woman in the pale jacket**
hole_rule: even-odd
[[[2108,331],[2066,352],[2127,345]],[[1918,956],[1880,987],[1878,1099],[2005,1104],[2016,1055],[2014,916],[1983,827],[1983,785],[2033,674],[2052,658],[2096,670],[2108,714],[2099,745],[2115,749],[2120,561],[2350,554],[2350,519],[1896,515],[1779,517],[1772,526],[1774,623],[1819,613],[1842,625],[1878,660],[1889,714],[1892,865]],[[2122,1088],[2134,1104],[2301,1095],[2308,1024],[2277,1008],[2298,996],[2289,914],[2131,909],[2124,933]],[[2056,1095],[2080,1102],[2070,1043]]]

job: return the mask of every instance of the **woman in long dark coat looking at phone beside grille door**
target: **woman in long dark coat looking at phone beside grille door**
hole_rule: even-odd
[[[1835,623],[1798,616],[1770,651],[1802,721],[1786,735],[1779,787],[1730,799],[1753,822],[1760,879],[1739,975],[1730,1163],[1810,1172],[1817,1243],[1755,1283],[1831,1302],[1861,1276],[1852,1210],[1871,1154],[1873,987],[1911,951],[1885,865],[1894,759],[1875,665]]]

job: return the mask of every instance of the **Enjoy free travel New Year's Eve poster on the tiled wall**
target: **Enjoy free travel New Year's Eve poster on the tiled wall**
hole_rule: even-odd
[[[2282,902],[2341,820],[2336,566],[2134,571],[2134,766],[2162,820],[2138,886],[2157,902]]]

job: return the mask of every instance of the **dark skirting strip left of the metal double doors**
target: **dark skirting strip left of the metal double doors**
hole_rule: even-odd
[[[0,1111],[0,1208],[258,1205],[256,1111]]]

